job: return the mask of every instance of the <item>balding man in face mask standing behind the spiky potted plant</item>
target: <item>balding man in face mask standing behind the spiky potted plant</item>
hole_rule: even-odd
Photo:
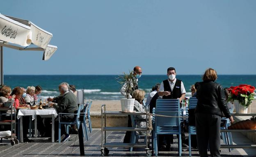
[[[135,66],[133,68],[133,76],[136,82],[138,82],[138,79],[141,77],[141,75],[142,75],[141,67]],[[138,89],[138,84],[134,84],[133,86],[135,86],[134,90]],[[126,96],[125,88],[126,88],[126,84],[123,84],[120,90],[123,96]],[[129,98],[132,98],[132,95],[129,95]],[[132,120],[130,115],[128,115],[128,127],[132,127]],[[131,133],[132,133],[131,131],[126,131],[126,135],[124,136],[123,143],[130,143]]]

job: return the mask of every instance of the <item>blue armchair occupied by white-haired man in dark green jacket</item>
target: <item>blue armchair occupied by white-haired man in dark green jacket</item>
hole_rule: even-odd
[[[84,108],[84,105],[83,104],[80,104],[79,107],[78,107],[78,111],[77,113],[59,113],[59,143],[61,142],[60,141],[60,134],[61,134],[61,124],[65,124],[65,125],[71,125],[71,124],[75,124],[77,126],[77,128],[79,129],[80,127],[80,113],[81,113],[81,110]],[[73,122],[61,122],[60,119],[61,119],[61,116],[62,115],[74,115],[75,116],[75,120]]]

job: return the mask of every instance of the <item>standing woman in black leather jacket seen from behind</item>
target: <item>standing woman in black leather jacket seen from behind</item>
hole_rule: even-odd
[[[197,88],[197,107],[195,108],[197,146],[200,157],[208,157],[209,142],[211,157],[220,156],[220,122],[222,112],[233,123],[233,117],[226,105],[224,90],[217,84],[217,73],[214,69],[207,69],[203,75],[203,82]]]

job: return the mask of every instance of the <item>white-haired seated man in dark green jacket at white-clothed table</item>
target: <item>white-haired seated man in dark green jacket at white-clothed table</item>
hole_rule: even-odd
[[[69,91],[68,86],[65,82],[59,84],[59,92],[60,96],[57,99],[53,100],[53,103],[50,106],[53,106],[57,113],[75,113],[78,110],[78,104],[76,101],[75,95]],[[62,115],[60,121],[65,122],[72,122],[74,121],[74,115]],[[59,129],[59,117],[55,119],[55,141],[58,139],[58,129]],[[64,125],[61,126],[61,135],[62,135],[62,142],[65,142],[69,139],[70,135],[64,133],[65,127]]]

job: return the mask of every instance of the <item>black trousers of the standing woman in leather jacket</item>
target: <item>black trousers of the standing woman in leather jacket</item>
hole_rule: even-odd
[[[211,157],[220,157],[220,122],[219,115],[196,113],[197,147],[200,157],[208,157],[210,146]]]

